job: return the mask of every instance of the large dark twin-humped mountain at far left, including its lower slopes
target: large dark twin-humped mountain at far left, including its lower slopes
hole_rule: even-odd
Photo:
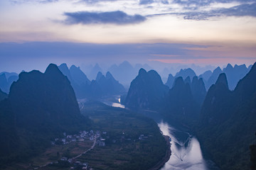
[[[50,139],[88,125],[70,81],[55,64],[45,73],[22,72],[0,102],[0,163],[31,157],[50,145]]]

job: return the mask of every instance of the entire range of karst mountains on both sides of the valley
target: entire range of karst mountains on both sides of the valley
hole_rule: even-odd
[[[181,69],[169,74],[166,84],[148,65],[123,62],[109,71],[113,75],[104,75],[96,64],[90,70],[92,81],[80,67],[67,64],[50,64],[45,73],[2,72],[0,163],[36,154],[64,131],[86,128],[90,120],[80,114],[77,98],[124,94],[119,81],[129,84],[133,79],[122,99],[127,108],[157,111],[191,127],[221,169],[249,169],[256,131],[256,63],[248,68],[228,64],[198,77],[193,69]]]

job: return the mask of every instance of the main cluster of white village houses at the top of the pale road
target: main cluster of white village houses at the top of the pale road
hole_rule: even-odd
[[[107,134],[107,132],[102,132],[102,134]],[[99,130],[95,132],[90,130],[87,132],[82,130],[77,135],[67,135],[66,132],[63,133],[64,138],[55,138],[54,141],[51,142],[52,145],[67,145],[70,142],[82,142],[85,140],[95,140],[95,136],[97,138],[97,145],[101,147],[105,147],[105,139],[102,139],[101,133]]]

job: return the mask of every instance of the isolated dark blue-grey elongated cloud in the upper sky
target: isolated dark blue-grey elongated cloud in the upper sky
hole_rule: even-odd
[[[125,25],[125,24],[134,24],[134,23],[142,23],[146,21],[144,16],[134,15],[130,16],[123,11],[112,11],[112,12],[87,12],[80,11],[75,13],[64,13],[67,18],[64,23],[66,24],[117,24],[117,25]]]

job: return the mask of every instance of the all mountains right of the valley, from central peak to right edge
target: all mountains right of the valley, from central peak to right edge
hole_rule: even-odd
[[[228,64],[199,79],[195,75],[191,69],[175,77],[170,74],[167,92],[159,74],[141,69],[125,106],[158,111],[166,119],[191,126],[221,169],[249,169],[249,146],[256,131],[256,63],[248,69]],[[204,82],[210,86],[208,92]]]

